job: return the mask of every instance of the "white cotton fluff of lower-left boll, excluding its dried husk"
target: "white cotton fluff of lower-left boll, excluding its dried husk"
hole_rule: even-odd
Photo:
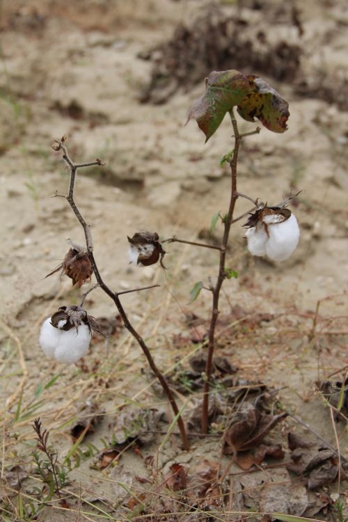
[[[79,324],[77,328],[62,330],[65,322],[60,321],[58,328],[52,326],[51,317],[45,320],[40,331],[40,347],[49,358],[60,363],[76,363],[88,353],[92,334],[88,324]]]

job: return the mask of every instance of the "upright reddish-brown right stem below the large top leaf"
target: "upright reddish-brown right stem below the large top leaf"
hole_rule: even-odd
[[[220,291],[223,285],[223,280],[226,277],[226,248],[228,245],[228,237],[230,235],[230,228],[232,225],[233,212],[235,210],[235,204],[238,198],[237,192],[237,161],[238,161],[238,153],[239,153],[239,145],[242,140],[242,136],[239,134],[237,127],[237,120],[235,119],[233,111],[230,112],[231,121],[233,131],[235,132],[235,148],[233,152],[232,160],[230,161],[231,167],[231,193],[230,193],[230,204],[228,207],[228,213],[226,215],[226,219],[224,219],[224,230],[223,230],[223,239],[221,244],[220,251],[220,263],[219,263],[219,274],[216,280],[216,284],[214,289],[212,290],[213,294],[213,303],[212,303],[212,316],[210,319],[209,326],[209,334],[208,334],[208,354],[207,354],[207,363],[205,365],[205,383],[203,390],[203,411],[202,411],[202,433],[206,434],[208,429],[208,409],[209,409],[209,382],[212,376],[212,361],[215,347],[215,329],[216,322],[219,315],[219,298]]]

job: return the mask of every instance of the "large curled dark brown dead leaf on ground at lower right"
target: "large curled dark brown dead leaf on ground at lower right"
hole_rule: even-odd
[[[290,457],[293,463],[287,469],[296,475],[306,474],[308,489],[317,489],[326,483],[333,482],[338,474],[336,453],[321,441],[301,438],[288,434]]]

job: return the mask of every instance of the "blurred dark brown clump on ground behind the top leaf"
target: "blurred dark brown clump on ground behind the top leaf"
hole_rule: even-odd
[[[260,72],[279,81],[296,78],[301,47],[285,38],[269,39],[262,24],[255,24],[249,15],[230,15],[209,6],[191,25],[177,26],[168,42],[141,53],[141,58],[153,62],[141,101],[164,103],[179,87],[191,88],[212,70]]]

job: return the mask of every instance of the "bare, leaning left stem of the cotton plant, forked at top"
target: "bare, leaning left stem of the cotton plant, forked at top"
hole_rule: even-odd
[[[97,263],[95,262],[95,258],[93,255],[93,241],[92,241],[92,235],[90,233],[90,225],[86,223],[84,220],[84,217],[82,216],[81,212],[79,212],[79,209],[77,208],[76,203],[74,202],[74,183],[75,183],[75,177],[77,168],[83,167],[83,166],[91,166],[91,165],[101,165],[101,161],[97,160],[91,164],[81,164],[81,165],[75,165],[72,159],[70,159],[68,155],[68,150],[62,141],[60,143],[61,150],[63,150],[63,159],[68,164],[70,168],[70,186],[69,186],[69,193],[68,196],[66,196],[66,199],[72,208],[72,211],[74,212],[75,216],[77,216],[77,219],[79,220],[79,223],[81,223],[82,228],[84,229],[84,234],[86,238],[86,246],[87,246],[87,253],[88,258],[90,260],[90,264],[92,265],[93,273],[95,274],[95,278],[97,279],[97,284],[100,286],[100,288],[113,300],[113,302],[116,305],[116,308],[118,309],[118,313],[122,317],[123,324],[125,325],[125,328],[133,335],[133,337],[136,339],[138,344],[140,345],[141,349],[143,350],[143,353],[145,354],[145,357],[148,360],[148,363],[150,365],[150,368],[152,372],[156,375],[157,379],[161,383],[161,386],[164,390],[164,393],[166,393],[166,396],[168,398],[168,401],[171,403],[171,407],[173,409],[174,415],[177,416],[179,413],[179,408],[177,407],[177,404],[175,402],[173,393],[171,392],[171,389],[168,386],[168,383],[164,376],[161,374],[159,369],[157,368],[157,365],[155,364],[154,359],[152,358],[152,355],[150,353],[150,349],[145,344],[145,341],[139,335],[139,333],[134,329],[134,326],[132,326],[131,322],[128,319],[127,313],[125,312],[125,309],[123,308],[119,295],[122,293],[128,293],[127,292],[113,292],[107,285],[104,283],[104,280],[102,279],[102,276],[100,275],[100,271],[97,268]],[[142,290],[142,289],[139,289]],[[136,291],[136,290],[135,290]],[[184,422],[182,420],[182,417],[179,416],[177,419],[177,425],[179,427],[180,435],[182,438],[182,446],[184,450],[189,450],[189,440],[187,438],[186,429],[184,427]]]

